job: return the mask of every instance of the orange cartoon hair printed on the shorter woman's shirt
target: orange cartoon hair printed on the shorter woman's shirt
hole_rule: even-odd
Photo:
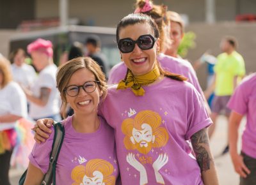
[[[86,163],[85,166],[76,166],[71,172],[71,178],[75,181],[72,185],[80,185],[83,182],[83,177],[93,177],[93,172],[99,171],[103,175],[103,181],[106,185],[115,184],[115,176],[112,175],[114,167],[106,160],[92,159]]]

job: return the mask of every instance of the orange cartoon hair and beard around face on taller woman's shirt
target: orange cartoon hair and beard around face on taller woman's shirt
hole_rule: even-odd
[[[122,132],[125,134],[124,145],[127,150],[137,149],[143,154],[147,154],[152,148],[163,147],[167,144],[169,135],[165,128],[159,127],[161,125],[161,116],[157,112],[151,110],[144,110],[139,112],[134,119],[125,119],[122,122]],[[142,130],[141,126],[148,124],[152,128],[152,135],[154,140],[148,143],[147,147],[141,148],[140,144],[131,141],[132,130]]]

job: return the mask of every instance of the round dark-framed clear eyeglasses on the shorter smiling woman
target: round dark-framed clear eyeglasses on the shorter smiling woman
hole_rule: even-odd
[[[100,84],[99,81],[88,81],[85,82],[83,85],[70,85],[64,89],[64,91],[68,94],[68,96],[74,97],[79,94],[80,87],[86,92],[86,93],[92,93],[96,89],[96,84]]]

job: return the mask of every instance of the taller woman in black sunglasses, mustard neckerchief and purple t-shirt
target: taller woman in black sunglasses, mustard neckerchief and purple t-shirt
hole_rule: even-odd
[[[117,26],[116,41],[128,70],[122,82],[109,87],[100,114],[115,129],[122,184],[218,184],[204,100],[186,78],[159,66],[154,20],[127,15]],[[52,120],[36,123],[49,133],[44,123],[50,126]],[[44,135],[38,134],[42,142]]]

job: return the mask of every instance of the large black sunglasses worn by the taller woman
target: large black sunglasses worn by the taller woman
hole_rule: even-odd
[[[157,38],[154,38],[151,34],[143,34],[138,40],[123,38],[118,41],[118,48],[122,53],[130,53],[134,50],[135,43],[137,43],[141,50],[149,50],[154,47],[156,40]]]

